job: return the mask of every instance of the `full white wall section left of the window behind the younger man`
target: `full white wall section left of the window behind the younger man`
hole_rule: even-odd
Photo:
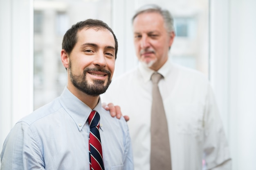
[[[33,109],[33,0],[0,0],[0,150]]]

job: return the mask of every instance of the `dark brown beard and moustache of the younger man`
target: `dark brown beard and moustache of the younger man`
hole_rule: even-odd
[[[72,73],[72,68],[71,68],[71,62],[69,66],[70,70],[70,80],[72,84],[79,89],[80,91],[84,92],[85,94],[88,94],[90,96],[99,96],[100,94],[103,94],[106,92],[108,89],[108,86],[111,83],[110,76],[111,73],[108,70],[101,69],[101,68],[85,68],[83,70],[82,75],[74,75]],[[86,80],[86,72],[88,71],[97,71],[97,72],[104,72],[108,74],[108,81],[107,84],[104,86],[105,81],[102,80],[92,80],[93,84],[89,84],[88,81]]]

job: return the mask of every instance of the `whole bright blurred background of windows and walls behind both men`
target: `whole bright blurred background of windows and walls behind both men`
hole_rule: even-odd
[[[233,170],[255,170],[255,0],[0,0],[0,148],[15,122],[62,93],[67,29],[88,18],[113,29],[115,78],[137,65],[131,18],[150,3],[174,17],[171,60],[204,73],[213,86]]]

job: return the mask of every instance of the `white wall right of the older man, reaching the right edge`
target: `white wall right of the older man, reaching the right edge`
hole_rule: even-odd
[[[211,0],[211,83],[233,170],[255,170],[256,1]]]

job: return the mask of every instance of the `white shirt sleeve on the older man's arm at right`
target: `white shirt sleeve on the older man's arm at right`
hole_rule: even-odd
[[[211,86],[204,115],[204,159],[207,170],[231,170],[231,157]]]

